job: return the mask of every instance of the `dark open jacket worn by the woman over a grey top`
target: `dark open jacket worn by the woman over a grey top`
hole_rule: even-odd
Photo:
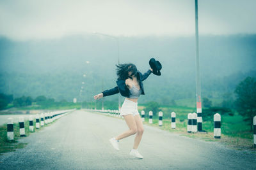
[[[137,78],[139,78],[139,80],[140,80],[141,94],[143,94],[143,95],[145,95],[145,92],[144,92],[144,87],[143,87],[142,81],[146,80],[148,78],[149,74],[151,74],[151,73],[152,73],[152,71],[150,69],[148,69],[148,71],[144,74],[140,73],[140,71],[138,71],[138,73],[137,73]],[[113,94],[118,94],[118,92],[120,92],[120,94],[124,97],[130,96],[129,89],[127,88],[127,86],[125,84],[125,80],[117,79],[116,84],[117,84],[117,86],[114,87],[113,89],[103,91],[102,92],[103,97],[110,96]]]

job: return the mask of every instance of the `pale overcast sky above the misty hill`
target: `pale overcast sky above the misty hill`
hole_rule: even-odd
[[[255,34],[255,0],[198,0],[200,34]],[[52,39],[101,32],[114,36],[195,34],[195,0],[0,1],[0,35]]]

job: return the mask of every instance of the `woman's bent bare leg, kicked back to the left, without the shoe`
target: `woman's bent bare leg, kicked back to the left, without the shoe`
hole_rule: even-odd
[[[122,134],[120,134],[118,136],[116,136],[115,137],[116,140],[126,138],[128,136],[131,136],[132,134],[136,134],[136,132],[137,132],[136,122],[135,122],[135,119],[134,119],[132,114],[125,115],[124,120],[125,120],[126,124],[128,125],[129,130],[123,132]]]

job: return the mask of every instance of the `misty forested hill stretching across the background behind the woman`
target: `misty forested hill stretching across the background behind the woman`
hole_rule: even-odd
[[[140,103],[195,98],[195,37],[120,37],[120,62],[132,62],[141,72],[155,57],[162,76],[145,81]],[[200,36],[202,97],[221,98],[246,76],[255,76],[256,36]],[[12,41],[0,39],[0,92],[71,101],[115,87],[117,44],[105,36]],[[86,61],[90,63],[87,64]],[[86,74],[86,77],[83,76]],[[82,96],[79,92],[84,81]],[[116,100],[116,96],[106,99]]]

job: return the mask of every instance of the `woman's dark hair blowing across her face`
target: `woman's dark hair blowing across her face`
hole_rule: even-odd
[[[130,71],[132,72],[131,76],[134,75],[137,77],[138,70],[134,64],[116,64],[116,75],[118,78],[122,80],[126,80],[129,77],[131,78],[131,76],[128,74]]]

